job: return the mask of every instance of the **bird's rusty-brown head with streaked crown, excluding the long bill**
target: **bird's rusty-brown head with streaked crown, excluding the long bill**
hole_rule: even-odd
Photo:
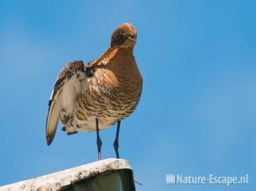
[[[124,23],[112,34],[112,48],[129,48],[136,43],[137,31],[132,24]]]

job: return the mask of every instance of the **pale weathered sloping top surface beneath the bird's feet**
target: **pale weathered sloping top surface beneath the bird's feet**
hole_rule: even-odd
[[[89,178],[100,172],[106,172],[117,169],[131,169],[128,161],[124,159],[109,158],[99,162],[92,162],[79,167],[69,168],[67,170],[54,172],[45,176],[31,178],[19,183],[12,183],[0,187],[1,191],[42,191],[57,190],[70,183],[77,182],[84,178]]]

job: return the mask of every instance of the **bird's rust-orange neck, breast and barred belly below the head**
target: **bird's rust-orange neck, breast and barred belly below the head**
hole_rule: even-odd
[[[132,50],[119,49],[95,70],[89,88],[78,100],[74,123],[87,121],[84,125],[94,130],[97,118],[101,128],[112,125],[133,113],[141,91],[142,77]],[[83,129],[83,123],[79,128]]]

